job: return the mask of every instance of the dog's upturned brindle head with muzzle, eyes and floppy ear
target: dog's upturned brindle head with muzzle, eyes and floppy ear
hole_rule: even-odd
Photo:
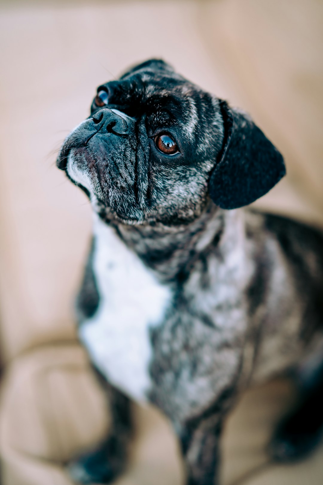
[[[209,197],[223,209],[241,207],[285,174],[249,116],[159,60],[99,86],[57,163],[95,207],[132,224],[190,221]]]

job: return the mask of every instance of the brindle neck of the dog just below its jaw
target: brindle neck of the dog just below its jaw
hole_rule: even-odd
[[[244,237],[243,211],[221,210],[212,201],[188,224],[126,225],[108,221],[125,244],[151,267],[162,281],[185,280],[197,259],[216,248],[224,260]],[[214,251],[212,251],[214,253]],[[203,259],[203,257],[202,257]]]

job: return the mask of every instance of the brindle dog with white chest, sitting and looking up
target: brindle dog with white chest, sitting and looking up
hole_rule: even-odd
[[[150,60],[98,88],[58,166],[94,210],[79,337],[113,416],[105,443],[70,466],[74,479],[108,483],[122,470],[134,399],[173,423],[186,483],[218,483],[237,394],[287,369],[300,400],[271,453],[308,453],[323,424],[323,236],[238,209],[285,174],[249,116]]]

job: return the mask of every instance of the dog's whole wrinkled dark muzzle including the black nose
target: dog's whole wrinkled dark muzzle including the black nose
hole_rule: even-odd
[[[101,110],[71,132],[57,159],[91,201],[128,224],[142,220],[148,208],[149,142],[144,131],[138,143],[138,129],[124,113]]]

